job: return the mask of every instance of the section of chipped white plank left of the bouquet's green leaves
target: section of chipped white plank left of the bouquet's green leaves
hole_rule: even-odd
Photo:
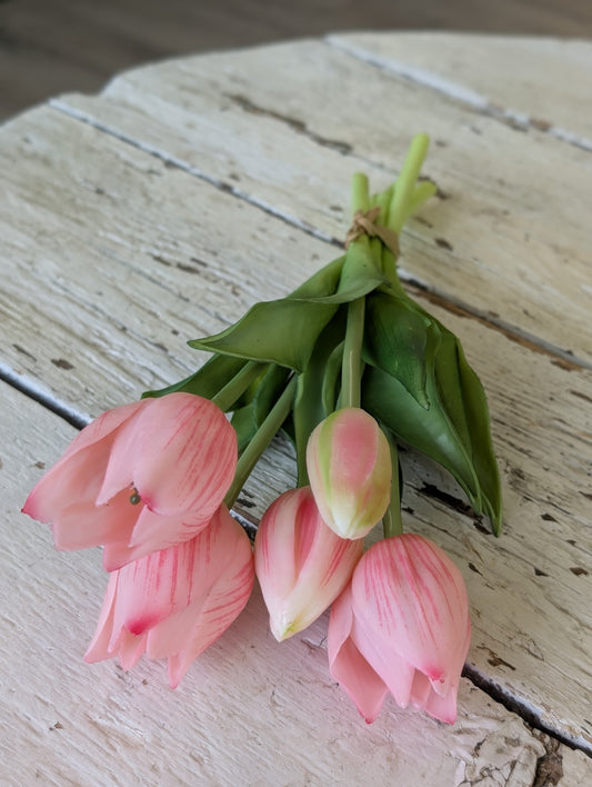
[[[88,407],[82,416],[187,376],[204,358],[188,339],[294,289],[327,253],[51,109],[23,116],[0,139],[2,360],[69,406]],[[337,253],[330,248],[327,261]]]

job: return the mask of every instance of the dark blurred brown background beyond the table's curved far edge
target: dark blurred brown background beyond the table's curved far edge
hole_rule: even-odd
[[[0,121],[131,66],[340,30],[592,39],[592,0],[0,0]]]

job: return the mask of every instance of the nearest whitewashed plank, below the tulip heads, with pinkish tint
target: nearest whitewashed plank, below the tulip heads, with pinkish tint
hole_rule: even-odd
[[[76,432],[4,383],[0,398],[2,784],[460,786],[486,774],[520,786],[551,756],[563,787],[592,778],[592,760],[466,679],[452,727],[392,703],[365,725],[329,678],[327,620],[279,645],[258,591],[174,691],[161,661],[128,674],[86,665],[106,585],[100,552],[57,552],[49,528],[19,512]]]

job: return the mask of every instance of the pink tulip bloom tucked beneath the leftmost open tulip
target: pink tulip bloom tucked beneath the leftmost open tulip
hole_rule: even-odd
[[[253,580],[251,542],[222,505],[194,538],[111,574],[84,660],[119,656],[128,670],[143,652],[168,657],[169,683],[175,688],[190,664],[242,611]]]

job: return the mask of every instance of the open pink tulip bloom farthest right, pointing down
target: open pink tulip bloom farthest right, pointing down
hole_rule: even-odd
[[[333,604],[330,670],[368,723],[390,691],[401,707],[452,724],[470,639],[461,572],[427,538],[405,534],[370,547]]]

